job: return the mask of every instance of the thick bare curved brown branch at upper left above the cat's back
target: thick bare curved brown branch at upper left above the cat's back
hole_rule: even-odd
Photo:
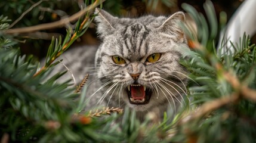
[[[58,21],[55,21],[52,23],[39,24],[36,26],[23,27],[23,28],[17,28],[17,29],[8,29],[8,30],[5,30],[5,33],[7,33],[7,34],[28,33],[28,32],[35,32],[38,30],[47,30],[47,29],[53,29],[56,27],[61,27],[61,26],[66,25],[67,23],[78,20],[79,17],[82,17],[82,15],[84,15],[88,11],[93,10],[95,7],[97,7],[104,1],[106,1],[106,0],[96,0],[93,4],[89,5],[84,10],[81,10],[78,13],[75,13],[70,17],[63,18],[61,20],[58,20]]]

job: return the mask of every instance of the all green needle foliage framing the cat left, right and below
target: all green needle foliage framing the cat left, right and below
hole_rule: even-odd
[[[190,101],[185,100],[175,117],[165,114],[159,124],[153,124],[150,114],[144,122],[138,121],[128,108],[122,117],[112,109],[104,109],[104,113],[112,111],[110,116],[82,114],[86,88],[75,94],[70,80],[57,83],[66,71],[49,77],[58,64],[55,58],[87,30],[91,21],[86,16],[77,21],[73,32],[67,30],[64,39],[53,38],[44,70],[33,57],[11,48],[17,45],[3,33],[10,20],[1,16],[0,138],[9,136],[10,142],[255,142],[255,45],[244,35],[240,43],[233,43],[232,54],[216,50],[220,28],[211,2],[204,5],[209,26],[194,8],[186,4],[183,8],[198,26],[198,35],[189,33],[193,49],[181,61],[191,73]],[[220,18],[225,21],[225,15]]]

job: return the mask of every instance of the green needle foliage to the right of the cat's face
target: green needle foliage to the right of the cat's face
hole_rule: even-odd
[[[216,51],[217,20],[211,2],[206,1],[204,7],[210,27],[202,14],[183,5],[198,26],[198,41],[192,41],[195,50],[187,51],[190,59],[182,64],[189,69],[193,81],[199,84],[190,84],[191,104],[202,107],[198,113],[192,112],[186,122],[183,120],[172,141],[255,142],[256,111],[252,108],[256,107],[256,47],[250,44],[249,36],[244,35],[240,43],[231,47],[235,49],[233,53],[221,52],[225,45]]]

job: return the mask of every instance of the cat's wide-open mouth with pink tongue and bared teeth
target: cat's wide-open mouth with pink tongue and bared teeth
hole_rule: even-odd
[[[152,91],[147,89],[143,85],[129,85],[128,89],[128,98],[131,104],[148,104]]]

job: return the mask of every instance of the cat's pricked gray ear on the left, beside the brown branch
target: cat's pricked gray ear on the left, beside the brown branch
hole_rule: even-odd
[[[104,36],[110,35],[115,32],[115,23],[118,21],[117,17],[113,17],[111,14],[99,8],[95,9],[95,21],[97,22],[97,33],[104,38]]]

